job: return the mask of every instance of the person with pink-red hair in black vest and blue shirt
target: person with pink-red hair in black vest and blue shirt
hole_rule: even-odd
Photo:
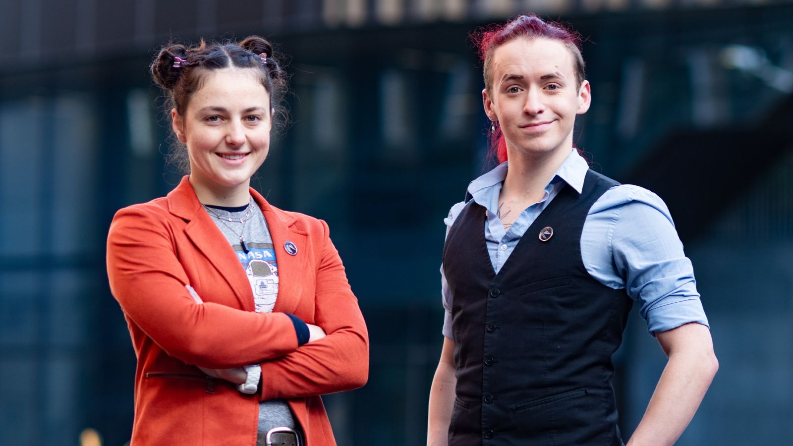
[[[573,146],[580,38],[534,15],[474,35],[500,164],[446,218],[432,446],[622,446],[611,356],[638,302],[668,363],[627,444],[673,444],[718,369],[668,208]]]

